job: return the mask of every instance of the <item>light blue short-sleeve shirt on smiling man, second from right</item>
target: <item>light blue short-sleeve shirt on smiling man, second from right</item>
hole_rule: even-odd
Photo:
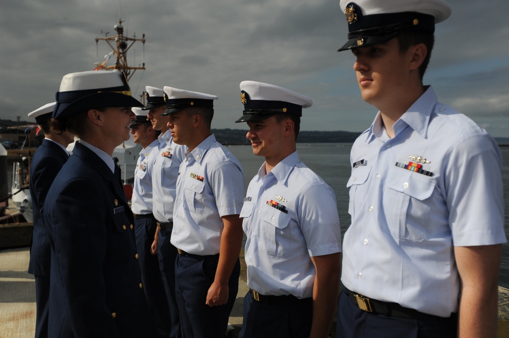
[[[310,257],[341,252],[332,189],[300,162],[297,152],[249,183],[240,217],[247,236],[247,284],[263,295],[313,296]]]

